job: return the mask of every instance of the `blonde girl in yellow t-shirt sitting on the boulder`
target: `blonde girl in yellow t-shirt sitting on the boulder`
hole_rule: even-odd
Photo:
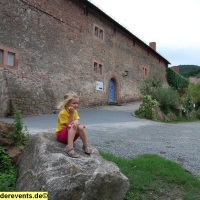
[[[58,114],[56,137],[57,140],[66,143],[66,153],[72,158],[78,158],[79,154],[74,151],[73,143],[80,137],[83,142],[83,150],[86,154],[91,154],[92,149],[87,142],[85,126],[79,123],[80,117],[77,112],[79,103],[78,95],[69,92],[64,96],[64,100],[59,104],[61,109]]]

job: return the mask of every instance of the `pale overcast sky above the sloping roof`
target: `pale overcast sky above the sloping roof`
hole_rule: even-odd
[[[89,0],[171,66],[200,66],[200,0]]]

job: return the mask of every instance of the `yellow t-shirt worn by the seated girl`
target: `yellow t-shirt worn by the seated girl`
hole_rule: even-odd
[[[74,111],[73,118],[74,118],[73,120],[80,119],[77,110]],[[68,121],[69,121],[69,113],[65,109],[61,110],[60,113],[58,114],[58,125],[56,128],[56,134],[66,128],[66,124],[68,123]]]

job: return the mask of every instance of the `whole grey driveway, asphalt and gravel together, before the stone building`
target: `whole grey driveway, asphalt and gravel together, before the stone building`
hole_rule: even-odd
[[[157,154],[175,161],[200,178],[200,122],[166,124],[132,115],[138,104],[79,109],[89,143],[123,158]],[[0,118],[12,123],[13,119]],[[57,115],[23,119],[31,134],[54,132]]]

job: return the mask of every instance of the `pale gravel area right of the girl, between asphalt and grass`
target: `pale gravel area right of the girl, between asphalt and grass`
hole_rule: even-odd
[[[87,133],[98,150],[128,159],[157,154],[200,178],[200,123],[101,123],[88,125]]]

